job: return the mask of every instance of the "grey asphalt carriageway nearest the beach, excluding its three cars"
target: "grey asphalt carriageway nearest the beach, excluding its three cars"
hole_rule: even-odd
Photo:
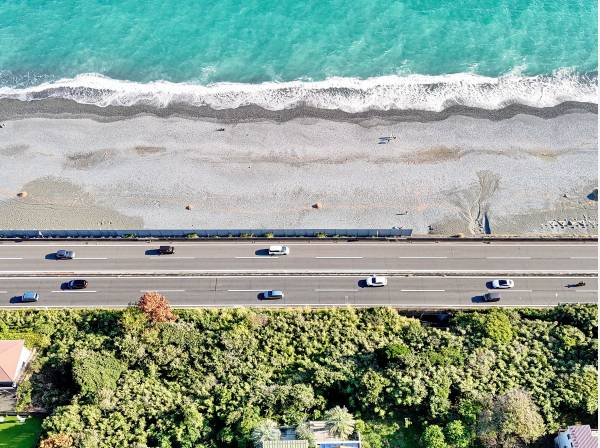
[[[594,243],[292,242],[290,255],[270,257],[277,242],[177,242],[173,255],[160,243],[1,243],[0,275],[27,273],[340,273],[459,272],[593,274]],[[56,260],[71,249],[74,260]]]

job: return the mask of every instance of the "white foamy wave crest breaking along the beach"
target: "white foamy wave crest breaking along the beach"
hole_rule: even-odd
[[[514,73],[498,78],[459,73],[210,85],[167,81],[138,83],[98,74],[81,74],[27,88],[0,87],[0,98],[23,101],[66,98],[102,107],[189,104],[222,110],[255,105],[275,111],[308,106],[349,113],[442,111],[453,105],[491,110],[510,104],[551,107],[565,101],[598,102],[596,77],[578,75],[566,69],[553,75],[529,77]]]

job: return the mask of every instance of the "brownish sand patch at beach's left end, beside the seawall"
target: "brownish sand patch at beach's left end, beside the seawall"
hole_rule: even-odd
[[[27,197],[0,200],[3,229],[142,228],[143,220],[99,205],[81,187],[54,177],[36,179],[22,188]]]

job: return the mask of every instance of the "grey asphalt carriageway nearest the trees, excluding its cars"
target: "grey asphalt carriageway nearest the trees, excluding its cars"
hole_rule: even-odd
[[[126,306],[145,291],[157,291],[176,306],[398,306],[487,307],[481,294],[488,291],[491,277],[388,277],[388,285],[369,288],[359,276],[219,276],[219,277],[94,277],[85,290],[61,288],[69,277],[2,278],[2,306],[21,304],[25,290],[40,294],[40,307]],[[584,287],[568,287],[583,280]],[[515,277],[515,287],[502,290],[501,306],[548,306],[559,303],[594,303],[597,278]],[[278,289],[283,300],[264,301],[260,293]]]

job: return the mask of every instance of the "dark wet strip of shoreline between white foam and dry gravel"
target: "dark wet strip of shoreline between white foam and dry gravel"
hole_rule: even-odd
[[[501,109],[482,109],[469,106],[450,106],[441,112],[427,110],[369,110],[365,112],[344,112],[339,109],[319,109],[308,106],[283,110],[267,110],[260,106],[240,106],[235,109],[213,109],[209,106],[189,104],[171,104],[166,107],[155,106],[97,106],[78,103],[63,98],[21,101],[0,99],[0,121],[27,118],[89,118],[99,122],[126,120],[139,116],[158,118],[182,118],[195,120],[214,120],[222,123],[244,123],[269,120],[287,122],[298,118],[315,118],[329,121],[361,122],[381,119],[389,122],[427,123],[443,121],[452,116],[464,116],[490,121],[507,120],[516,115],[551,119],[572,113],[598,114],[598,104],[567,101],[552,107],[532,107],[511,104]]]

